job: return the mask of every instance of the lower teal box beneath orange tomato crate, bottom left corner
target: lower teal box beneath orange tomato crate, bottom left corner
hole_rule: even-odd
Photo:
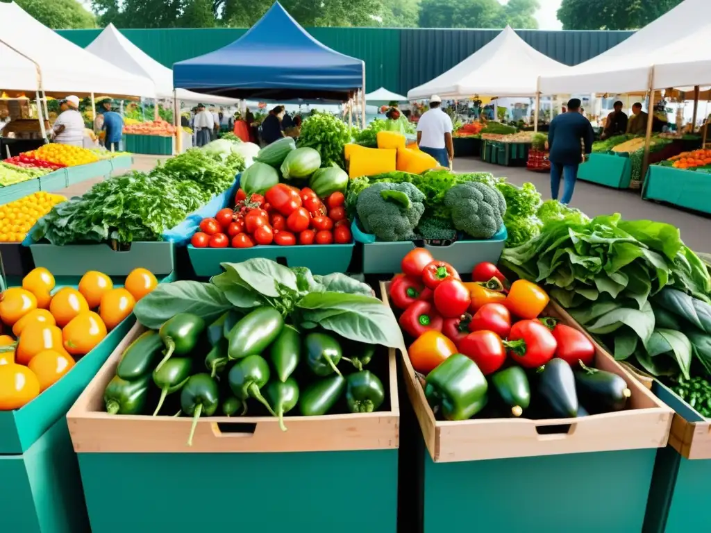
[[[62,417],[21,455],[0,455],[0,531],[88,533],[77,456]]]

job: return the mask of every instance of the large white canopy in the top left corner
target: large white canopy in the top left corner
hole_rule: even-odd
[[[40,73],[40,88],[48,92],[72,92],[79,94],[102,94],[122,96],[155,97],[156,88],[152,80],[129,74],[105,60],[97,58],[80,46],[50,30],[29,16],[14,2],[0,2],[0,43],[13,48],[27,58],[26,68],[5,69],[1,65],[0,85],[7,90],[30,90],[38,87],[37,75],[28,84],[28,72],[32,69]],[[8,54],[4,51],[2,57]],[[33,65],[34,63],[34,65]]]

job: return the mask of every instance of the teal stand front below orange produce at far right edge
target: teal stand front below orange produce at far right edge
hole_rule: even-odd
[[[642,186],[644,200],[711,213],[711,174],[683,168],[650,165]]]

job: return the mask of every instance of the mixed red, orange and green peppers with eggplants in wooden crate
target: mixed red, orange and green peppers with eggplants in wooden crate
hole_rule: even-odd
[[[592,368],[594,345],[546,316],[538,285],[509,287],[491,263],[475,266],[465,283],[425,249],[408,253],[402,271],[390,301],[402,311],[407,356],[438,418],[574,418],[626,407],[624,379]]]

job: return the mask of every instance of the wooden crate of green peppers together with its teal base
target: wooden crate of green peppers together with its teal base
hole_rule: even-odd
[[[385,411],[287,415],[286,432],[270,416],[204,417],[188,447],[189,418],[103,412],[122,350],[142,331],[136,325],[124,338],[67,417],[93,531],[125,531],[107,497],[110,479],[131,495],[133,533],[232,531],[235,524],[262,533],[396,532],[393,353],[380,358],[389,371]]]

